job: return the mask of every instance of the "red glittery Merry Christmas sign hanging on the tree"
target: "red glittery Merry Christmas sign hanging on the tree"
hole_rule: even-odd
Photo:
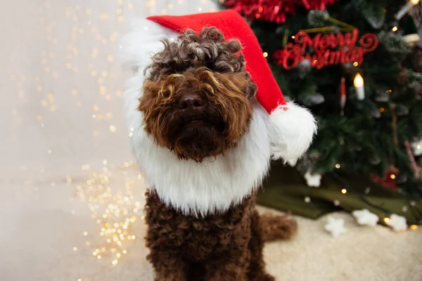
[[[283,65],[283,68],[290,70],[297,67],[302,60],[309,60],[312,67],[321,69],[327,65],[339,63],[354,63],[359,65],[364,60],[364,54],[376,49],[378,38],[375,34],[366,33],[359,39],[359,46],[356,46],[359,30],[342,34],[316,34],[311,38],[305,32],[298,32],[295,35],[295,44],[287,44],[283,50],[276,51],[274,58]],[[308,48],[314,48],[313,54],[307,52]]]

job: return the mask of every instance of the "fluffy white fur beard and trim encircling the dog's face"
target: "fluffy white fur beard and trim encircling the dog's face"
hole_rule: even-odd
[[[158,40],[177,34],[154,23],[148,30],[143,29],[151,23],[138,23],[134,26],[135,31],[124,37],[121,43],[123,55],[120,58],[138,70],[127,81],[124,103],[127,131],[133,133],[130,144],[139,169],[160,199],[183,214],[206,216],[224,212],[256,190],[267,176],[271,159],[269,115],[256,102],[250,130],[236,148],[227,150],[224,156],[204,159],[200,164],[179,160],[170,150],[158,146],[146,135],[143,115],[137,110],[144,79],[141,69],[151,62],[151,52],[162,49]],[[152,37],[148,36],[150,31]]]

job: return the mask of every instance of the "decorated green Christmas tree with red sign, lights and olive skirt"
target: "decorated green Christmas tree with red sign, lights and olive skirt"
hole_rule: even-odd
[[[420,214],[407,212],[422,195],[421,51],[410,13],[419,1],[220,2],[250,22],[284,96],[318,119],[318,136],[294,168],[274,164],[262,203],[295,198],[320,211],[281,209],[312,217],[368,207],[420,223]],[[289,189],[271,193],[272,185]]]

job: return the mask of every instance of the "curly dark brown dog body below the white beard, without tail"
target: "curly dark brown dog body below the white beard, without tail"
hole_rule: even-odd
[[[184,216],[146,193],[148,260],[157,281],[269,281],[255,198],[224,214]]]

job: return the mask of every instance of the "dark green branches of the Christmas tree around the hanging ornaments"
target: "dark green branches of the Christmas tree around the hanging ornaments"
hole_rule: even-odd
[[[384,176],[392,164],[399,169],[397,184],[402,190],[409,195],[422,195],[422,183],[414,177],[404,148],[405,141],[422,138],[422,99],[418,96],[422,74],[416,71],[414,49],[403,41],[402,30],[392,31],[392,27],[400,27],[395,14],[404,4],[407,0],[340,0],[328,6],[328,11],[297,11],[281,25],[250,22],[263,50],[269,53],[269,64],[283,94],[308,107],[319,120],[318,136],[296,166],[302,174],[334,171]],[[292,70],[284,70],[271,59],[276,50],[293,43],[291,37],[300,30],[340,28],[327,21],[328,15],[357,27],[359,37],[365,33],[377,35],[378,47],[364,56],[362,64],[331,65],[317,70],[302,63]],[[354,91],[357,72],[364,77],[364,100],[358,100]],[[340,116],[342,77],[347,86],[344,116]],[[397,125],[393,124],[392,116],[397,117]],[[340,164],[340,169],[336,164]]]

